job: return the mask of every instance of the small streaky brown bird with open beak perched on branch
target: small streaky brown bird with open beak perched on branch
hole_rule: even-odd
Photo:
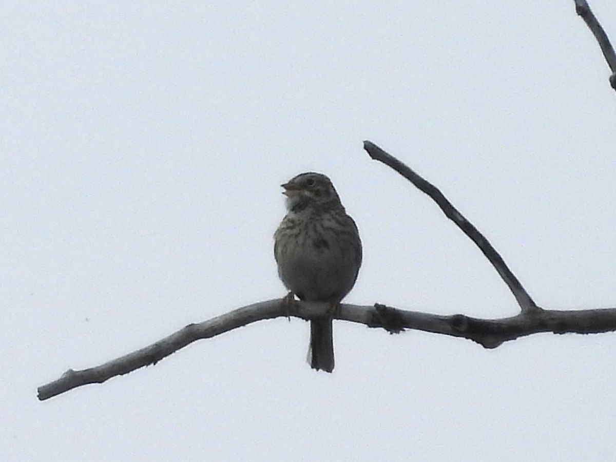
[[[291,298],[331,304],[330,315],[310,322],[309,351],[313,369],[331,372],[333,310],[355,285],[362,241],[328,177],[302,173],[282,187],[287,214],[274,234],[278,275]]]

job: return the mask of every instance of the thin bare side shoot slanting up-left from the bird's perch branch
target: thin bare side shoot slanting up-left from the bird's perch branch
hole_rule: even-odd
[[[509,290],[511,290],[511,293],[513,293],[513,296],[516,298],[517,304],[520,306],[522,313],[529,314],[541,310],[541,308],[535,304],[533,299],[530,298],[530,295],[524,289],[513,272],[511,272],[500,254],[498,254],[495,248],[493,248],[493,246],[488,242],[485,236],[480,233],[479,230],[474,227],[474,225],[469,222],[452,205],[452,203],[450,203],[450,201],[447,200],[443,193],[440,192],[439,188],[431,184],[428,180],[423,179],[406,164],[397,160],[397,158],[385,152],[373,142],[368,140],[364,141],[363,148],[368,152],[368,155],[370,155],[371,158],[383,162],[397,171],[400,175],[413,183],[421,192],[429,195],[429,197],[431,197],[432,200],[439,205],[445,216],[453,221],[462,230],[462,232],[466,234],[477,245],[477,247],[479,247],[480,251],[482,251],[485,257],[487,257],[488,261],[492,263],[493,267],[495,267],[500,277],[503,278],[503,281],[505,281],[506,285],[509,287]]]

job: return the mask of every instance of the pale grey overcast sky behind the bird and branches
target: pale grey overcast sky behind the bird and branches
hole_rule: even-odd
[[[5,2],[0,458],[606,460],[616,334],[487,351],[256,323],[46,402],[36,387],[283,296],[280,184],[328,174],[363,240],[348,302],[504,317],[442,192],[540,306],[616,306],[616,95],[573,1]],[[616,4],[591,6],[616,39]]]

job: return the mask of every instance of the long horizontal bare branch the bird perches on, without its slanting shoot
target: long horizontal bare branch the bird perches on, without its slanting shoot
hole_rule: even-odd
[[[128,374],[140,367],[155,364],[194,341],[210,338],[240,326],[289,315],[308,320],[322,316],[328,309],[328,304],[310,302],[296,302],[288,307],[282,304],[282,299],[257,302],[199,324],[189,324],[150,346],[100,366],[78,371],[68,370],[59,379],[39,387],[38,399],[43,401],[82,385],[103,383],[111,377]],[[616,308],[580,311],[539,310],[514,317],[489,320],[462,314],[443,316],[405,311],[381,304],[375,306],[342,304],[335,318],[368,327],[383,328],[390,333],[413,329],[462,337],[477,342],[485,348],[495,348],[508,340],[539,332],[590,334],[616,330]]]

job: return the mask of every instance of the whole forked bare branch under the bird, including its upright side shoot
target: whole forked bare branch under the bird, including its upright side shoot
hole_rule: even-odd
[[[341,304],[333,314],[334,319],[359,323],[370,328],[383,328],[389,333],[421,330],[466,338],[485,348],[495,348],[506,341],[540,332],[591,334],[616,330],[616,308],[546,310],[537,306],[487,238],[445,198],[436,186],[372,142],[365,141],[363,147],[373,160],[378,160],[399,172],[436,202],[445,216],[473,241],[492,264],[516,299],[520,312],[507,318],[480,319],[463,314],[437,315],[402,310],[378,303],[373,306]],[[253,322],[291,316],[311,320],[331,315],[330,309],[329,304],[305,301],[290,303],[286,298],[257,302],[198,324],[189,324],[150,346],[100,366],[79,371],[68,370],[59,379],[39,387],[38,399],[46,400],[86,384],[103,383],[111,377],[156,364],[192,342],[211,338]]]

